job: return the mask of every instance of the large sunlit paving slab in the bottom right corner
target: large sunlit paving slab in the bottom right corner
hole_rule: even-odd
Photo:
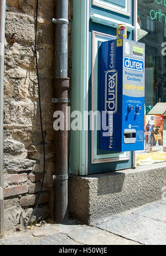
[[[166,223],[137,214],[112,217],[97,227],[146,245],[166,244]]]

